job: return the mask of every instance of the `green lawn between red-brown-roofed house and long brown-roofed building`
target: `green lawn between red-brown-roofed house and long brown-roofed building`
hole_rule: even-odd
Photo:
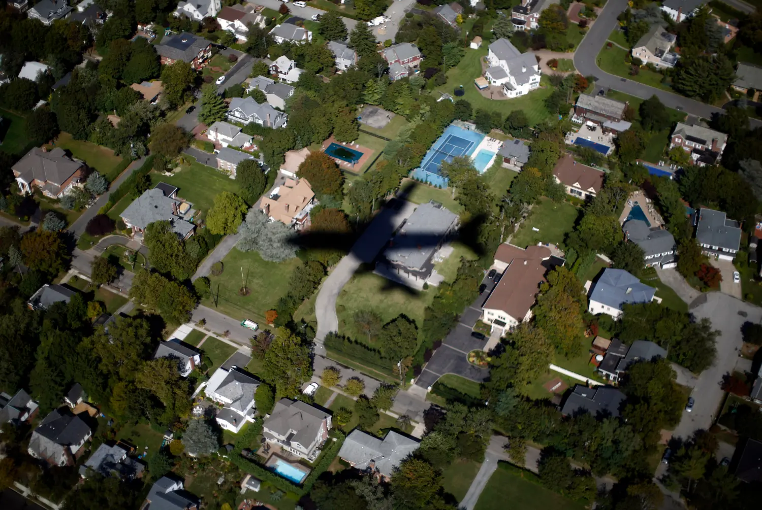
[[[569,202],[555,203],[543,196],[511,238],[511,244],[522,248],[538,242],[559,244],[574,228],[580,213],[581,209]],[[539,232],[532,228],[538,228]]]

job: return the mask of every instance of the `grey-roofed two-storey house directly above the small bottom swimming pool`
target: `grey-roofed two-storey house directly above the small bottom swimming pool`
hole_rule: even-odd
[[[314,461],[328,439],[331,414],[301,400],[278,400],[264,420],[264,438],[298,457]]]

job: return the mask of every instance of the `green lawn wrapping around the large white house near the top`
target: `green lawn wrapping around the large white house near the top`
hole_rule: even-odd
[[[539,88],[537,91],[507,100],[491,100],[482,96],[474,84],[474,79],[482,75],[482,58],[487,55],[487,44],[482,44],[479,49],[466,49],[466,56],[458,65],[447,72],[447,84],[437,88],[437,91],[453,94],[453,90],[459,85],[463,85],[466,92],[463,99],[467,100],[476,110],[483,108],[490,112],[498,111],[502,116],[507,116],[514,110],[523,110],[527,114],[530,126],[535,126],[543,120],[549,119],[552,115],[546,110],[543,100],[552,94],[552,88],[543,80],[545,88]]]

